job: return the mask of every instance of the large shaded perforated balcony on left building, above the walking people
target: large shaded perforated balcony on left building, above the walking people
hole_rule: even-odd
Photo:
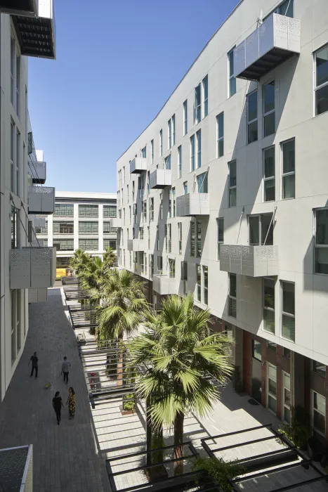
[[[55,283],[55,247],[11,250],[11,289],[42,289]]]

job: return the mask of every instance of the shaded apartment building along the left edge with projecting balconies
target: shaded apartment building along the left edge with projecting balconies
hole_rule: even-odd
[[[24,348],[29,290],[51,285],[52,252],[30,248],[34,214],[53,212],[54,189],[37,177],[46,164],[29,124],[27,65],[55,58],[53,22],[52,0],[0,0],[0,401]]]

